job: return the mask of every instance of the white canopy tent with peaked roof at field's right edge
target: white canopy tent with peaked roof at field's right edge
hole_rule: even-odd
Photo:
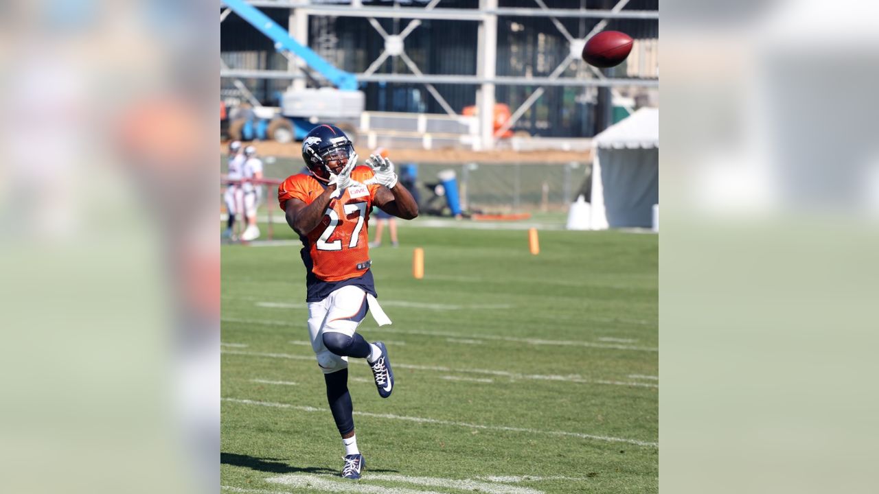
[[[659,110],[641,108],[592,146],[591,228],[650,228],[659,203]]]

